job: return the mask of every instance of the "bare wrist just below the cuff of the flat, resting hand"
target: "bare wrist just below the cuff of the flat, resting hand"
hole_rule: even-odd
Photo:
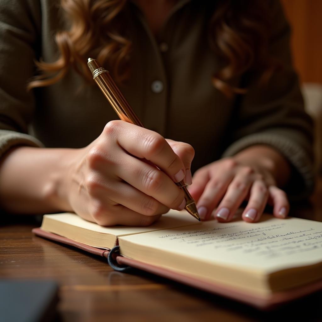
[[[237,153],[234,159],[244,165],[264,167],[270,171],[279,187],[289,181],[291,169],[287,159],[268,145],[248,147]]]

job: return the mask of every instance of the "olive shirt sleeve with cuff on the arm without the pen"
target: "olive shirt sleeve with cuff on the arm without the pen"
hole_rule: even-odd
[[[270,52],[282,63],[268,84],[259,85],[259,74],[245,75],[245,95],[236,99],[231,144],[223,156],[266,144],[287,158],[292,175],[286,191],[290,197],[306,197],[314,188],[312,119],[304,111],[298,77],[292,67],[290,28],[279,1],[272,1],[274,17]]]

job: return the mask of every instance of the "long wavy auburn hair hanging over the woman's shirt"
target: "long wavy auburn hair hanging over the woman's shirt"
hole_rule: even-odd
[[[70,27],[56,33],[60,51],[57,61],[36,62],[41,74],[28,88],[48,86],[61,80],[70,68],[92,81],[87,57],[93,56],[109,70],[118,83],[130,75],[131,41],[126,34],[128,0],[61,0]],[[209,20],[209,43],[223,60],[213,74],[215,88],[226,96],[246,89],[229,84],[244,72],[257,68],[261,80],[268,80],[276,64],[268,54],[271,19],[266,1],[219,0]]]

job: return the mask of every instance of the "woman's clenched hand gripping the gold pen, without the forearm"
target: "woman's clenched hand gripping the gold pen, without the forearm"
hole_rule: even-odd
[[[154,131],[110,121],[89,146],[71,150],[58,195],[67,208],[106,226],[146,226],[169,208],[182,210],[184,193],[175,182],[190,171],[194,150],[169,143]]]

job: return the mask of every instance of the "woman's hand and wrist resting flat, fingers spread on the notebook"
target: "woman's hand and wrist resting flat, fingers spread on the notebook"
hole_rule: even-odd
[[[216,209],[215,218],[229,222],[244,200],[248,203],[242,218],[247,222],[257,222],[267,203],[273,206],[274,216],[285,218],[289,202],[277,185],[285,185],[289,172],[287,161],[277,151],[253,146],[200,168],[189,192],[203,220],[209,219]]]

